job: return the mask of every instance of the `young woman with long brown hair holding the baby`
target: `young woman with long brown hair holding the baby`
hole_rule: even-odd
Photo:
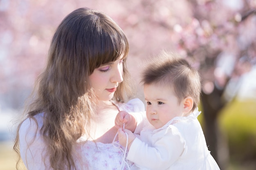
[[[106,14],[76,9],[56,29],[47,66],[19,124],[14,150],[29,170],[112,170],[120,110],[144,111],[132,99],[128,41]],[[130,166],[126,164],[126,166]],[[17,164],[18,168],[18,164]]]

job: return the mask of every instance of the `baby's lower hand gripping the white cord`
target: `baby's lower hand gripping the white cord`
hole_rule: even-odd
[[[126,133],[128,135],[128,143]],[[128,144],[128,149],[130,149],[130,145],[132,144],[135,138],[135,135],[133,135],[133,133],[130,130],[123,128],[118,129],[118,140],[121,146],[126,147],[126,145]]]

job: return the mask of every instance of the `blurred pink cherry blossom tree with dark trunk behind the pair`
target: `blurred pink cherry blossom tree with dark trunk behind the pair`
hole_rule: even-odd
[[[130,43],[128,69],[137,83],[144,60],[161,50],[186,57],[202,76],[204,134],[225,168],[218,129],[230,80],[256,64],[255,0],[0,0],[0,106],[20,108],[45,65],[56,26],[79,7],[113,18]],[[144,99],[138,85],[138,97]]]

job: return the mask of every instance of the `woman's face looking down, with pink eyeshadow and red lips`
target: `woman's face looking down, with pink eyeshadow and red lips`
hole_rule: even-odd
[[[95,68],[89,76],[91,86],[99,100],[107,101],[112,99],[117,86],[123,81],[123,56],[115,62],[104,64]]]

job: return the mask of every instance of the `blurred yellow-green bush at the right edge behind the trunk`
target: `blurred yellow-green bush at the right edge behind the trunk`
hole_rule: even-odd
[[[256,100],[231,102],[219,117],[220,128],[227,136],[230,158],[235,161],[255,161]]]

